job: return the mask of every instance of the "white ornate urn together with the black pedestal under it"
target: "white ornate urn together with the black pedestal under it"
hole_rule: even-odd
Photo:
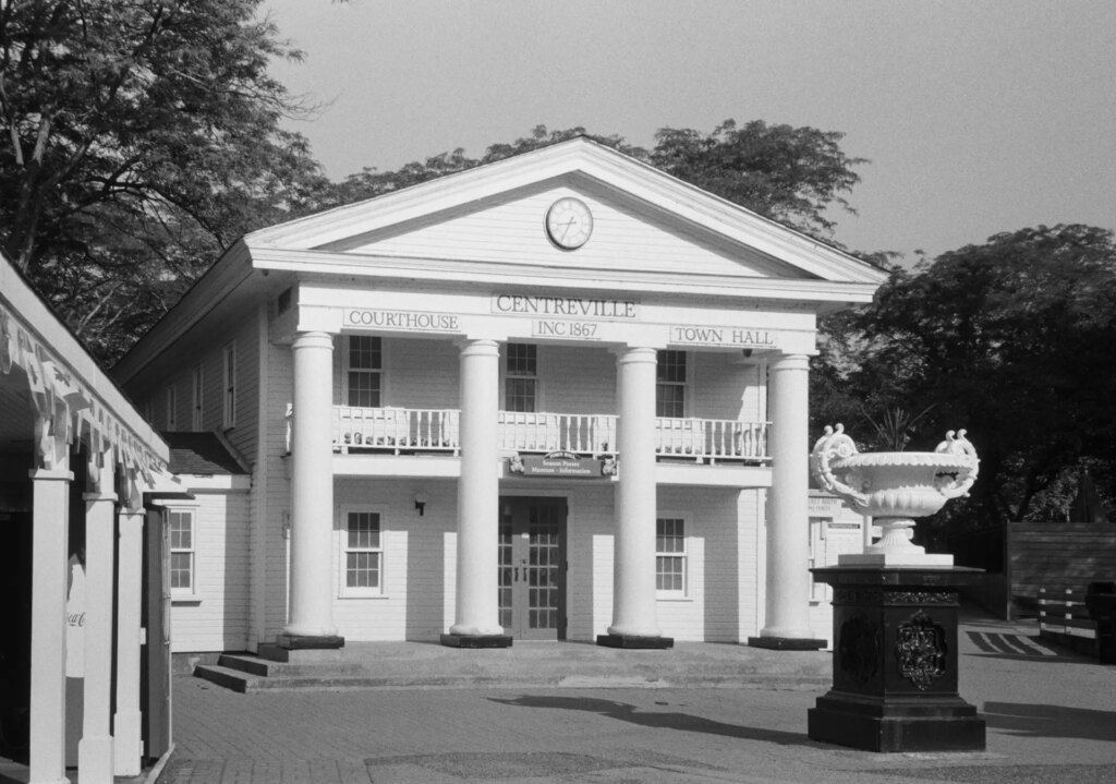
[[[980,465],[965,431],[933,452],[860,453],[826,428],[815,477],[883,537],[863,555],[815,568],[834,590],[834,687],[807,717],[814,740],[872,752],[979,752],[985,721],[958,692],[958,586],[981,570],[911,543],[916,517],[965,495]]]

